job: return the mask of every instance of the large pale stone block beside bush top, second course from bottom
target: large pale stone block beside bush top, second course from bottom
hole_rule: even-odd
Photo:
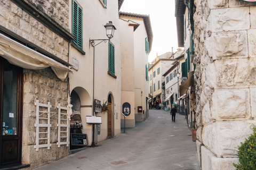
[[[217,121],[207,124],[202,133],[203,143],[219,158],[237,157],[238,146],[253,133],[255,126],[256,121]]]

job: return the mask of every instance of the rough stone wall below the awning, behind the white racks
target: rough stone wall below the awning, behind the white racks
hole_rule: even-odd
[[[51,143],[50,150],[39,148],[36,151],[36,99],[39,103],[51,102],[51,112],[58,113],[58,104],[67,106],[68,83],[61,81],[50,67],[43,70],[28,70],[24,74],[23,90],[23,129],[22,129],[22,163],[30,164],[33,169],[69,155],[67,145],[57,146],[58,142],[58,114],[51,117]],[[45,130],[46,131],[46,130]],[[41,141],[45,143],[46,141]]]

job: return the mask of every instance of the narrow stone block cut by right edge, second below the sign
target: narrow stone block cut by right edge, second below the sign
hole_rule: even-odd
[[[256,8],[255,8],[256,12]],[[255,20],[256,21],[256,18]],[[256,24],[255,24],[256,28]],[[250,57],[256,57],[256,29],[250,29],[248,30],[248,46],[249,46],[249,56]]]

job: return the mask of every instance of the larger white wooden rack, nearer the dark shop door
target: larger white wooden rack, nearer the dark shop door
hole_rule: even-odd
[[[50,119],[51,119],[51,113],[56,114],[56,112],[51,112],[52,105],[50,102],[48,102],[48,104],[42,104],[42,103],[39,103],[39,100],[36,100],[35,106],[36,106],[36,123],[35,123],[36,145],[34,147],[36,148],[36,151],[39,151],[39,148],[47,147],[47,149],[50,149],[50,147],[52,146],[51,141],[50,141],[50,139],[51,139],[50,138],[51,137],[50,129],[52,127]],[[47,108],[47,111],[40,111],[40,109],[39,109],[40,107]],[[46,120],[47,123],[40,123],[43,120]],[[47,128],[47,131],[45,131],[45,128]],[[45,134],[47,137],[39,138],[39,134]],[[47,140],[47,144],[39,145],[40,140]]]

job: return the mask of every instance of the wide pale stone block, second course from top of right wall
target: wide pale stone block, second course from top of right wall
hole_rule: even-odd
[[[249,7],[219,8],[211,10],[212,32],[250,29],[249,13]]]

